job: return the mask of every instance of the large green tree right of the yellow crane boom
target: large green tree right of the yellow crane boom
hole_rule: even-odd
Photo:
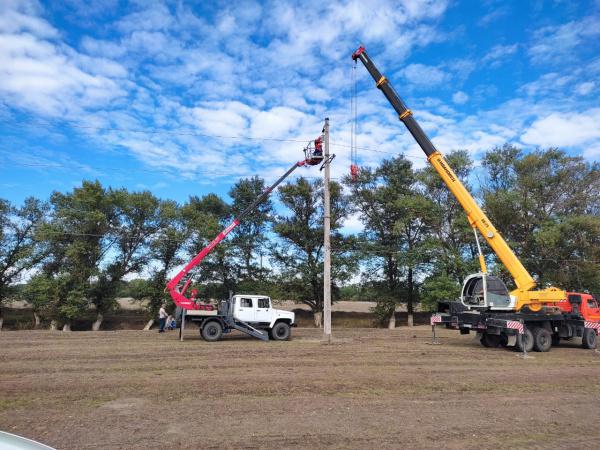
[[[505,145],[488,152],[483,166],[489,174],[482,189],[486,211],[525,267],[542,286],[578,286],[578,271],[589,270],[581,255],[590,254],[593,240],[574,241],[563,233],[593,229],[600,211],[600,164],[556,148],[526,154]],[[562,245],[565,239],[570,247]],[[568,277],[558,270],[567,262]]]

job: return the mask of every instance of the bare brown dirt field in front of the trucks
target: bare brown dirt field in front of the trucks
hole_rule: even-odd
[[[56,448],[598,448],[600,354],[430,328],[0,333],[0,429]]]

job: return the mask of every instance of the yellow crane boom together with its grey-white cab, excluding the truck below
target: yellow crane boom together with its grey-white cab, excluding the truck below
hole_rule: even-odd
[[[477,205],[473,196],[460,182],[442,154],[429,140],[413,117],[411,110],[406,107],[388,79],[375,67],[367,55],[365,48],[359,47],[352,54],[352,59],[355,62],[360,60],[364,64],[369,74],[375,80],[376,86],[383,92],[392,107],[396,110],[396,113],[398,113],[399,119],[408,128],[408,131],[410,131],[421,149],[425,152],[425,155],[427,155],[429,163],[435,168],[440,177],[442,177],[448,189],[450,189],[466,212],[473,229],[479,230],[515,281],[517,288],[509,293],[501,279],[487,273],[481,247],[479,246],[477,231],[475,231],[481,272],[469,275],[465,279],[461,292],[461,302],[463,305],[469,309],[500,311],[529,310],[531,312],[538,312],[547,303],[565,300],[566,292],[555,287],[533,290],[536,283],[532,276],[523,264],[521,264],[519,258],[514,254],[498,230],[494,228],[479,205]]]

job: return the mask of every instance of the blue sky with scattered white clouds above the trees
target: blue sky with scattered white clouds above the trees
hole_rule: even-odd
[[[224,195],[300,159],[324,117],[341,177],[360,43],[442,152],[477,160],[510,142],[600,159],[599,1],[0,4],[0,197],[16,203],[94,178]],[[356,73],[359,163],[422,166]]]

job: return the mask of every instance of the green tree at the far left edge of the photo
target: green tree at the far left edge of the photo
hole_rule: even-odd
[[[0,330],[2,305],[12,286],[46,255],[37,231],[46,220],[47,211],[45,203],[31,197],[20,208],[0,199]]]

